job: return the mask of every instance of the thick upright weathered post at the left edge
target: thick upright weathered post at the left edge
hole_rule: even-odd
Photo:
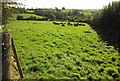
[[[2,79],[10,79],[10,47],[11,35],[10,32],[3,33],[4,46],[2,47]]]

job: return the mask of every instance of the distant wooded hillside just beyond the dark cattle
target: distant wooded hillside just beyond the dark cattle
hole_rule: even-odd
[[[88,22],[89,20],[87,17],[80,12],[80,10],[73,9],[70,11],[65,11],[59,9],[47,10],[47,9],[39,9],[34,10],[36,15],[45,16],[46,18],[50,19],[51,21],[61,20],[61,21],[72,21],[72,22]]]

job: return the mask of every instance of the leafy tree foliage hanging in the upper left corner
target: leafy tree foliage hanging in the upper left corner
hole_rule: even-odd
[[[12,20],[14,14],[25,12],[25,8],[20,8],[19,6],[16,8],[15,6],[18,6],[18,3],[2,2],[2,25],[6,25],[10,20]]]

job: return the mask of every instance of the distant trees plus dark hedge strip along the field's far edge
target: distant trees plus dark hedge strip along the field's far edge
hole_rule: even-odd
[[[86,16],[83,13],[81,13],[81,10],[73,9],[73,10],[59,10],[57,9],[31,9],[29,11],[33,12],[25,12],[28,14],[36,14],[39,16],[46,17],[45,19],[40,18],[17,18],[18,20],[50,20],[50,21],[71,21],[71,22],[90,22],[90,16]]]

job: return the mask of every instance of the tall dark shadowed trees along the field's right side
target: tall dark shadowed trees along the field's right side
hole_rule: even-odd
[[[91,27],[107,40],[120,47],[120,1],[112,2],[91,17]]]

